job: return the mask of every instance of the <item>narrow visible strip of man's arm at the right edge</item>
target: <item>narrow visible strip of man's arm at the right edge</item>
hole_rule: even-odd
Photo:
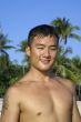
[[[74,96],[73,96],[72,122],[81,122],[81,115],[79,113],[79,109],[75,101],[75,90],[74,90]]]

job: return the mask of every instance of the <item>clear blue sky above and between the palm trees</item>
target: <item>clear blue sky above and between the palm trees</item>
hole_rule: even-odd
[[[0,0],[0,27],[14,47],[28,38],[31,28],[50,24],[57,18],[69,19],[81,28],[81,0]],[[75,33],[81,35],[81,30]],[[67,47],[72,48],[70,57],[81,58],[81,42],[69,39]],[[11,61],[22,62],[23,53],[13,49],[8,53]]]

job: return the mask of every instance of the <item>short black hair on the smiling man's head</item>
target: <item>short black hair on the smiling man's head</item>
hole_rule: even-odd
[[[49,24],[40,24],[40,26],[37,26],[34,28],[32,28],[30,31],[29,31],[29,35],[28,35],[28,45],[30,47],[34,37],[53,37],[55,35],[57,37],[57,40],[59,42],[59,35],[58,33],[55,32],[55,28],[52,27],[52,26],[49,26]]]

